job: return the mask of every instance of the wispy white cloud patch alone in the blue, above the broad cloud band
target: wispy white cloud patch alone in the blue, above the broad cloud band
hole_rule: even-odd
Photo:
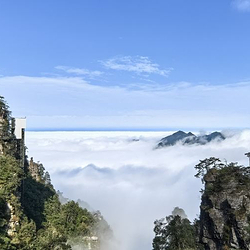
[[[173,70],[172,68],[161,69],[157,63],[151,62],[146,56],[118,56],[102,61],[102,64],[107,69],[129,71],[144,74],[145,76],[148,74],[157,74],[168,77]]]

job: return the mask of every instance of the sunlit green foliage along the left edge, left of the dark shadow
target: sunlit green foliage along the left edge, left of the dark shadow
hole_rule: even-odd
[[[0,156],[0,246],[1,249],[32,249],[36,228],[33,222],[28,222],[23,215],[20,199],[23,170],[11,156]],[[19,222],[16,232],[10,237],[7,235],[7,226],[10,212],[7,203],[14,208],[13,219]],[[32,230],[33,227],[33,230]],[[33,232],[33,233],[32,233]]]

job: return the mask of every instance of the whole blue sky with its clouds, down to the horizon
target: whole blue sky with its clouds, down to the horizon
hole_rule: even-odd
[[[30,129],[244,128],[250,0],[2,1],[0,94]]]

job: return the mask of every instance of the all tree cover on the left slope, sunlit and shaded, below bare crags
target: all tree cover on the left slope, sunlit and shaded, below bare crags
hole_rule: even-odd
[[[41,181],[36,181],[13,157],[0,157],[0,249],[71,249],[68,242],[83,244],[86,236],[100,229],[100,216],[74,201],[62,205],[49,174],[42,174]],[[7,202],[14,207],[18,222],[11,237],[7,235]]]

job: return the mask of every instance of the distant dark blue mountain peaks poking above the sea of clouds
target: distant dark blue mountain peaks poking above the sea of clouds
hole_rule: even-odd
[[[162,138],[159,141],[157,148],[173,146],[178,142],[188,145],[192,144],[204,145],[213,140],[222,141],[225,139],[226,137],[222,133],[217,131],[208,135],[198,135],[198,136],[194,135],[191,132],[185,133],[183,131],[178,131],[173,133],[172,135]]]

